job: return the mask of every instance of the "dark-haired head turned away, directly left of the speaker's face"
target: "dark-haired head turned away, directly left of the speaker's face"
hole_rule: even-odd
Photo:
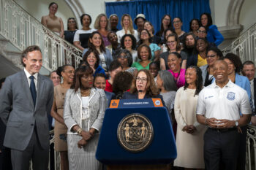
[[[129,72],[118,72],[113,81],[113,93],[116,94],[116,99],[122,99],[124,92],[129,90],[132,85],[133,76]]]

